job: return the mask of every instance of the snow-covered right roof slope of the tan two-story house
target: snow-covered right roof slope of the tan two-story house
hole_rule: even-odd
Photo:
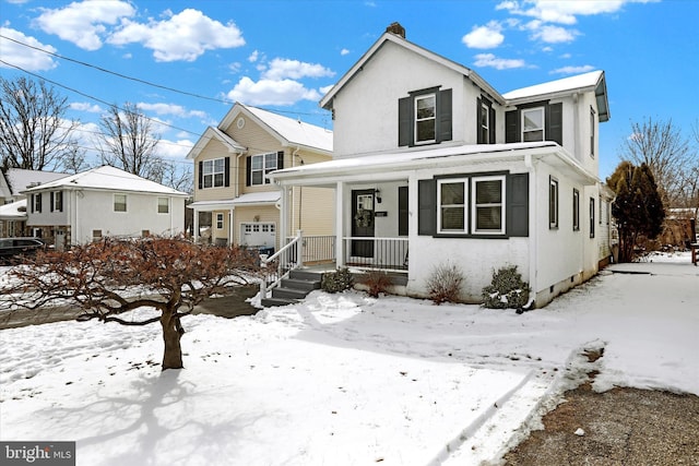
[[[315,147],[325,152],[332,152],[332,131],[301,120],[284,117],[261,108],[238,104],[254,117],[275,131],[289,144],[298,144],[306,147]]]

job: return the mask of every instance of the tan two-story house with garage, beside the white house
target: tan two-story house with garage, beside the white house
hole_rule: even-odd
[[[237,103],[187,155],[194,163],[194,240],[277,249],[280,191],[268,175],[332,159],[332,131]],[[294,188],[288,225],[306,235],[332,232],[332,190]],[[205,238],[202,213],[211,214]],[[206,225],[209,226],[209,225]]]

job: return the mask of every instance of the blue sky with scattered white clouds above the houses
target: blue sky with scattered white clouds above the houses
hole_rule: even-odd
[[[699,122],[695,0],[0,0],[0,73],[50,80],[84,147],[108,104],[137,104],[163,123],[162,155],[186,166],[235,100],[332,129],[318,101],[395,21],[500,93],[604,70],[603,178],[632,121],[672,119],[687,138]]]

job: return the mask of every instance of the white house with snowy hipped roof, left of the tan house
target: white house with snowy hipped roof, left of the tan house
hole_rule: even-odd
[[[105,236],[176,236],[188,194],[102,166],[28,188],[27,227],[62,249]]]

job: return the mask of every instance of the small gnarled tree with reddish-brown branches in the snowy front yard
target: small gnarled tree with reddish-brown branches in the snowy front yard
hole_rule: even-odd
[[[163,370],[181,369],[181,318],[208,297],[235,292],[257,270],[257,258],[238,248],[200,246],[183,238],[105,238],[66,252],[39,252],[28,265],[10,272],[12,279],[2,291],[23,308],[78,306],[84,311],[79,321],[159,322]],[[139,319],[132,311],[140,308],[155,312]]]

